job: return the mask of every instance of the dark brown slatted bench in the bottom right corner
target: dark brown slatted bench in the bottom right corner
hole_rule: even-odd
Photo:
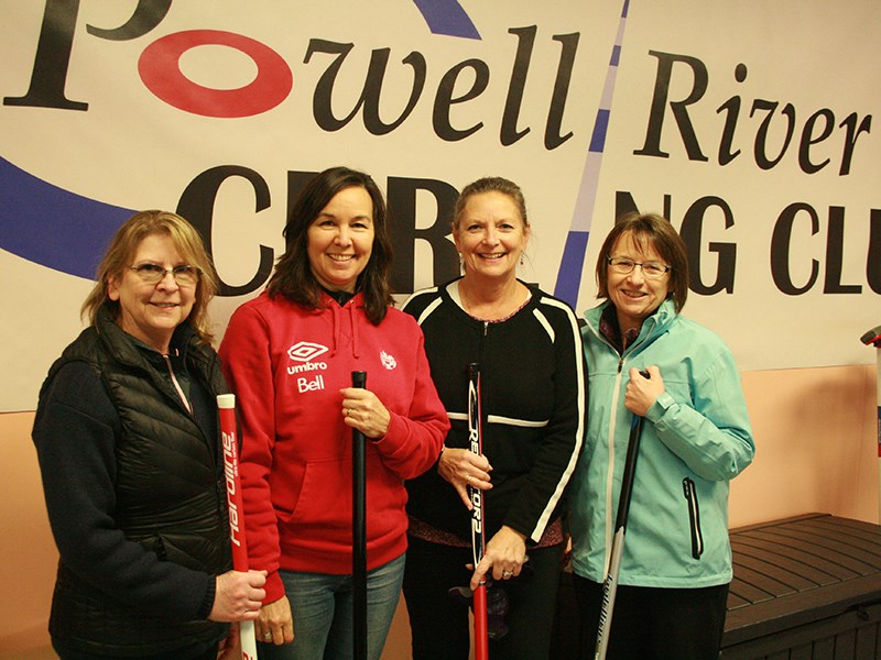
[[[724,660],[881,658],[881,527],[827,514],[731,530]]]

